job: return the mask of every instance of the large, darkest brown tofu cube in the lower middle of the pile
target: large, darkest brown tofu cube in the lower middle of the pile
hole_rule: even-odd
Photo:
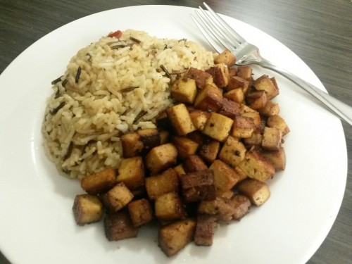
[[[209,201],[216,197],[214,175],[211,170],[201,170],[180,176],[184,200]]]

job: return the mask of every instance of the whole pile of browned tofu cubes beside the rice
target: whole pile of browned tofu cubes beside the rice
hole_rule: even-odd
[[[82,179],[78,225],[103,218],[116,241],[156,220],[158,246],[173,256],[190,241],[210,246],[217,223],[267,201],[267,180],[285,167],[289,127],[272,101],[275,78],[254,80],[251,67],[235,61],[224,51],[208,70],[189,68],[173,80],[175,104],[158,116],[158,128],[122,135],[119,168]]]

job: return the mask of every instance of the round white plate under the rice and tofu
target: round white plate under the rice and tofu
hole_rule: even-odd
[[[241,222],[222,226],[211,247],[189,244],[167,258],[156,232],[108,242],[101,224],[77,227],[72,205],[77,181],[58,176],[42,149],[40,132],[51,80],[78,49],[113,30],[192,39],[208,46],[194,26],[191,8],[132,6],[96,13],[35,42],[0,77],[0,248],[12,263],[305,263],[325,239],[344,194],[347,155],[341,122],[279,75],[275,76],[287,135],[287,169],[270,180],[272,196]],[[157,14],[157,15],[156,15]],[[260,30],[224,17],[261,53],[324,89],[292,51]],[[208,46],[210,49],[210,46]]]

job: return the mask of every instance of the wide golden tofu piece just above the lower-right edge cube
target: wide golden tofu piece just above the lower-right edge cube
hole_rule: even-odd
[[[264,182],[274,176],[275,168],[259,151],[247,151],[239,168],[252,179]]]

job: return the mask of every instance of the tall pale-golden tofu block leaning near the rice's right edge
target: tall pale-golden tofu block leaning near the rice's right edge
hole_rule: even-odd
[[[196,127],[194,127],[191,117],[189,116],[189,112],[187,111],[184,103],[177,104],[176,106],[171,106],[166,110],[166,112],[168,113],[172,127],[175,128],[179,136],[184,136],[196,130]]]

